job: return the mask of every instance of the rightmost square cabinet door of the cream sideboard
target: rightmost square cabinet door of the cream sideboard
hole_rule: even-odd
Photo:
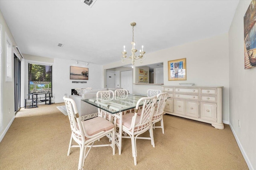
[[[201,102],[200,118],[208,121],[217,121],[217,104]]]

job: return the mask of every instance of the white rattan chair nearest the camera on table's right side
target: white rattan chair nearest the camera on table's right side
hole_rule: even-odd
[[[141,115],[137,115],[139,105],[143,102]],[[137,165],[137,148],[136,139],[139,135],[149,130],[150,137],[147,139],[151,140],[151,145],[155,147],[153,128],[152,128],[152,117],[153,111],[156,104],[156,96],[140,98],[136,104],[136,109],[134,113],[123,115],[122,117],[122,131],[128,134],[122,138],[130,138],[132,141],[132,156],[134,157],[134,164]],[[117,121],[118,126],[119,121]],[[142,138],[142,137],[140,137]],[[146,137],[143,137],[146,139]]]

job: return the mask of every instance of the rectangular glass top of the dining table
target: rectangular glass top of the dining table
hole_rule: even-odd
[[[140,98],[147,97],[144,94],[128,94],[124,96],[112,96],[111,98],[82,99],[82,101],[96,106],[111,114],[120,113],[136,107]],[[143,105],[141,102],[140,106]]]

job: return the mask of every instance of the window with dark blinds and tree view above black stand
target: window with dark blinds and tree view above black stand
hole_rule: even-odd
[[[52,93],[52,65],[28,63],[28,93]]]

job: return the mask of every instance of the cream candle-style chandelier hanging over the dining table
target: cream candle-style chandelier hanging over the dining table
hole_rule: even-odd
[[[146,56],[144,56],[144,54],[146,53],[145,51],[143,51],[143,45],[141,46],[142,50],[140,50],[140,55],[139,56],[136,56],[135,53],[137,52],[137,50],[135,49],[135,42],[134,42],[134,29],[133,27],[136,25],[136,22],[131,22],[130,25],[132,25],[132,55],[130,55],[129,59],[132,60],[132,65],[134,65],[134,61],[135,60],[140,60],[140,63],[142,63],[145,59],[146,59]],[[122,52],[122,56],[121,56],[121,59],[122,59],[122,63],[125,62],[125,59],[126,59],[126,51],[125,51],[125,46],[124,46],[124,51]]]

